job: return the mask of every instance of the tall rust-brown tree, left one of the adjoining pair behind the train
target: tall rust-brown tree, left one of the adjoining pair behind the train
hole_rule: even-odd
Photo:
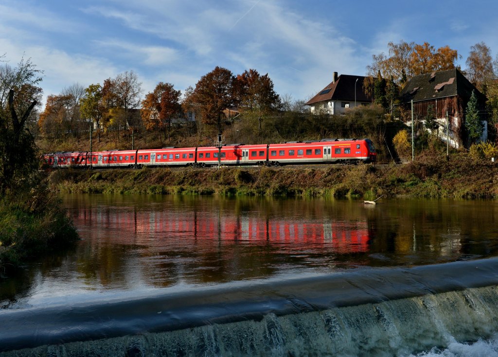
[[[199,104],[202,121],[222,132],[223,111],[233,104],[234,76],[226,68],[216,67],[201,77],[194,90],[194,101]]]

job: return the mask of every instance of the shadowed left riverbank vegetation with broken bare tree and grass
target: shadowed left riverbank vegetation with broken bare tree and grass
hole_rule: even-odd
[[[40,100],[40,72],[28,61],[0,68],[0,274],[77,233],[40,172],[29,124]]]

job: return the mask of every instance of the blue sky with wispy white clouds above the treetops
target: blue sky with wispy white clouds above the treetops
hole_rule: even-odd
[[[309,99],[333,72],[365,75],[389,41],[498,53],[496,0],[0,0],[0,55],[31,58],[44,98],[134,71],[142,96],[183,92],[216,66],[268,73],[280,96]]]

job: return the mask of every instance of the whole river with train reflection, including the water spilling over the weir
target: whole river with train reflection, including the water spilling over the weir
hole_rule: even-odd
[[[0,281],[0,356],[498,356],[498,202],[62,199],[82,240]]]

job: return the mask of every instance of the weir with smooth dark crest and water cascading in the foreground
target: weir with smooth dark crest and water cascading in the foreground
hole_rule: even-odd
[[[5,310],[0,356],[409,355],[492,338],[497,268],[493,258],[361,269]]]

